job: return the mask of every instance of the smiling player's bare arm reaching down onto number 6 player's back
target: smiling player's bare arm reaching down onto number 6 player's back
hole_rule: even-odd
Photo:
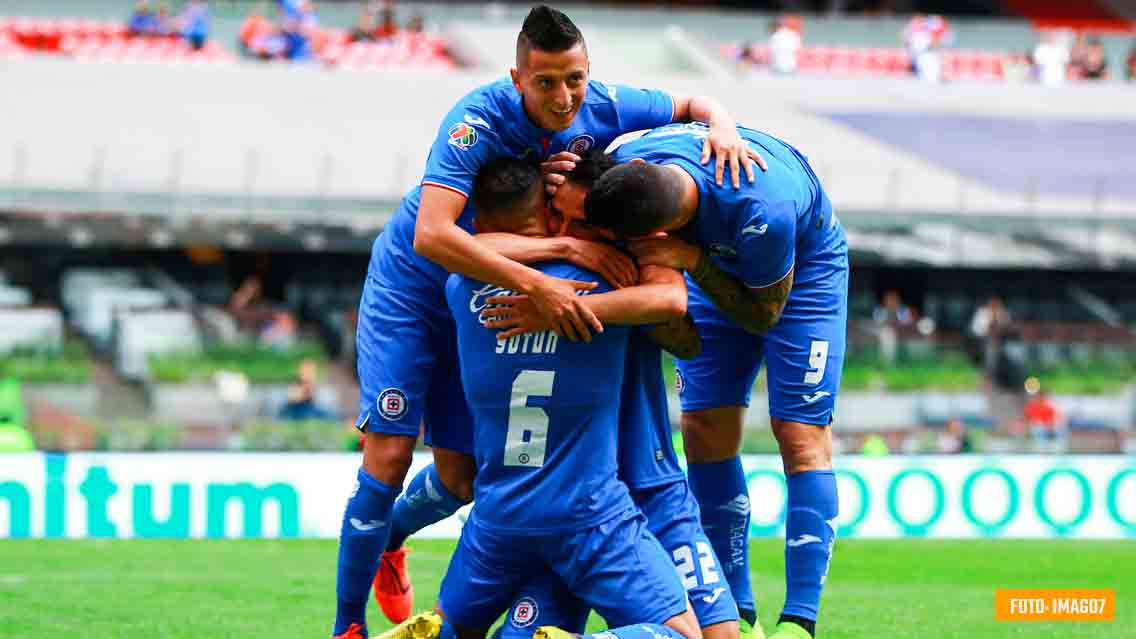
[[[576,291],[595,288],[594,283],[550,277],[493,251],[458,226],[465,206],[465,194],[424,184],[415,225],[415,251],[451,273],[524,293],[557,334],[591,341],[591,330],[603,331],[600,321],[576,296]]]

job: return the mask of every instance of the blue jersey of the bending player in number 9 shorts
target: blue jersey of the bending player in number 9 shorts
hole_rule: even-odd
[[[718,186],[715,166],[700,161],[708,128],[673,124],[648,132],[616,150],[619,161],[643,158],[674,164],[699,188],[694,240],[728,273],[752,288],[780,281],[794,264],[846,263],[844,234],[808,159],[785,142],[738,126],[737,132],[769,164],[754,184]]]

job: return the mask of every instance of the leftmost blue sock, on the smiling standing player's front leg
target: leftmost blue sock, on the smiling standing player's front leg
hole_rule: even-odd
[[[370,582],[391,532],[391,507],[401,487],[391,487],[359,468],[358,481],[340,528],[340,557],[335,578],[335,630],[352,623],[366,626]]]

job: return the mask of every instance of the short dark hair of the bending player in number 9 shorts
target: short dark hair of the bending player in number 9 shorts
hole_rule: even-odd
[[[605,172],[584,199],[587,223],[620,238],[661,231],[682,215],[682,189],[663,167],[624,163]]]

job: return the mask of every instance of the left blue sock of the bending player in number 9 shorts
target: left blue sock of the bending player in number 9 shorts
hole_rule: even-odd
[[[742,458],[690,464],[687,474],[702,511],[702,528],[726,572],[729,591],[738,609],[755,612],[750,584],[750,492]]]

